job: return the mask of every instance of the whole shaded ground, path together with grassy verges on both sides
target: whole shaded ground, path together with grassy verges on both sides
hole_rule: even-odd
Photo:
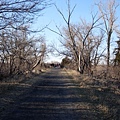
[[[89,79],[56,68],[13,82],[0,94],[0,120],[119,120],[120,94]]]

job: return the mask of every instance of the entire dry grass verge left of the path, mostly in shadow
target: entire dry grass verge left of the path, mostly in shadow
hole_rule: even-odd
[[[43,70],[42,74],[46,71],[48,70]],[[27,92],[40,79],[40,74],[15,75],[0,81],[0,114],[6,114],[4,112],[12,107],[19,96]]]

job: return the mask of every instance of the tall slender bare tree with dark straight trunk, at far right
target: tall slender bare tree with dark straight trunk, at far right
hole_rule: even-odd
[[[108,71],[108,67],[110,65],[111,37],[116,27],[115,26],[117,20],[116,10],[118,8],[118,4],[116,4],[116,0],[107,0],[106,4],[104,2],[100,2],[97,4],[97,6],[103,18],[104,22],[103,30],[107,35],[107,71]]]

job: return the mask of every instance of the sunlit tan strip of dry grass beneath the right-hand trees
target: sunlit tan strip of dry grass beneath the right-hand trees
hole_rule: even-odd
[[[66,70],[67,73],[74,78],[76,82],[79,82],[80,87],[95,87],[98,90],[104,91],[104,89],[109,89],[115,94],[120,95],[120,79],[112,78],[97,78],[91,77],[86,74],[81,75],[75,70]],[[112,71],[111,71],[112,72]]]

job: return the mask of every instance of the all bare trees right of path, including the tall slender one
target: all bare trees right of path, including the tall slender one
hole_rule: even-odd
[[[72,14],[74,14],[75,6],[71,8],[70,0],[67,0],[68,17],[55,5],[56,10],[66,23],[63,29],[57,27],[58,32],[48,28],[52,32],[60,35],[60,41],[65,48],[63,51],[58,50],[60,54],[71,58],[76,64],[76,69],[81,72],[91,74],[91,67],[96,66],[104,58],[107,62],[107,71],[110,66],[110,46],[112,35],[116,30],[117,17],[116,12],[119,4],[116,0],[99,1],[96,3],[98,12],[91,14],[91,21],[81,20],[79,23],[71,22]],[[114,41],[115,42],[115,41]],[[73,64],[72,63],[72,64]]]

